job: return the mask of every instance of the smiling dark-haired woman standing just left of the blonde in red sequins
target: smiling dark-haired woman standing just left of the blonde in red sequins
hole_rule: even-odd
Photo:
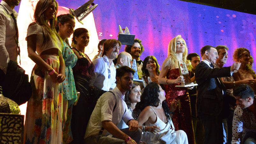
[[[148,77],[150,77],[151,82],[158,83],[158,76],[160,73],[159,64],[157,59],[154,56],[147,56],[142,65],[142,77],[145,80],[146,84],[149,83]]]

